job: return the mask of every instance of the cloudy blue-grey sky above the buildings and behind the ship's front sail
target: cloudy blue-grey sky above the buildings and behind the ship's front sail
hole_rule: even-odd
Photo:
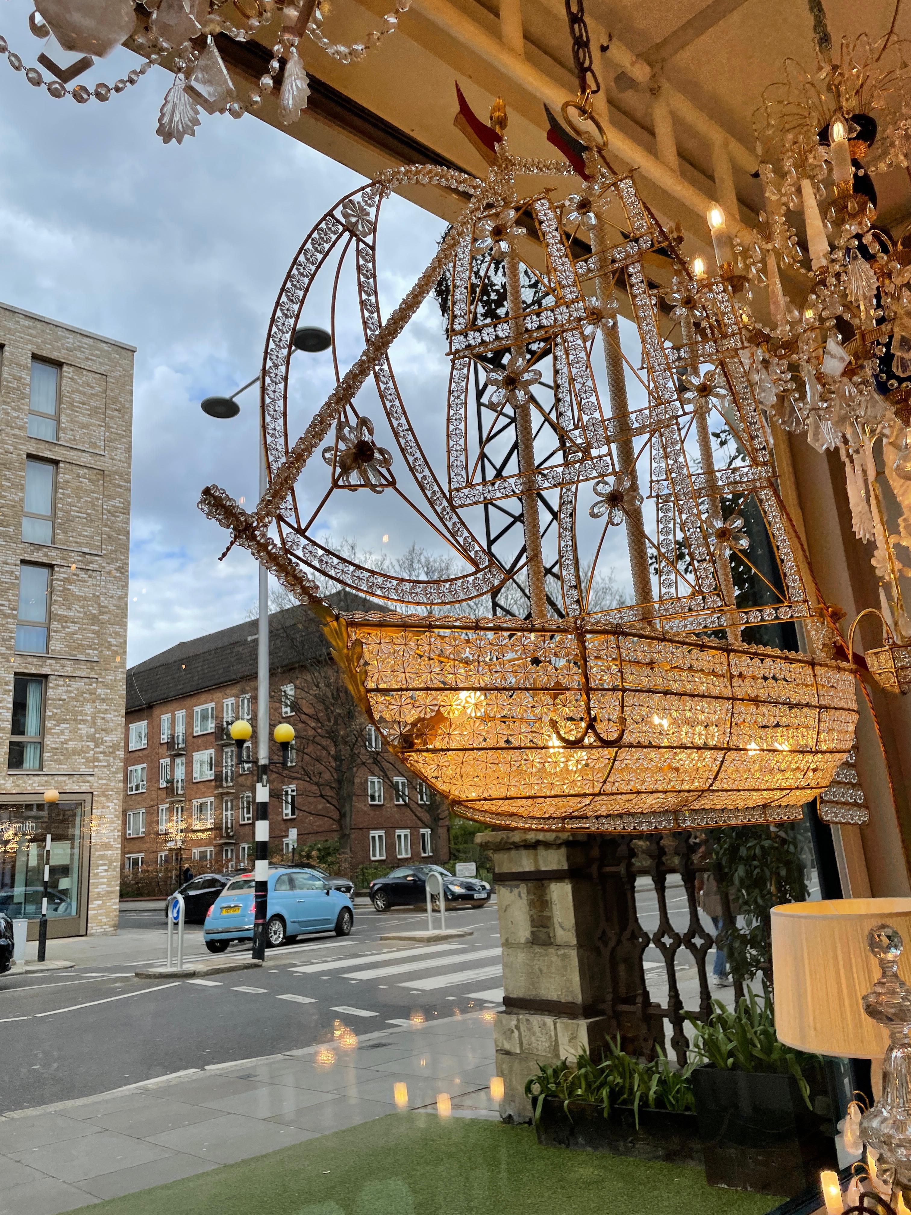
[[[0,32],[28,64],[41,46],[28,33],[27,11],[9,6]],[[136,64],[118,50],[84,79],[90,87],[101,79],[113,84]],[[107,103],[79,106],[33,89],[0,58],[0,299],[136,346],[130,665],[255,611],[253,558],[236,548],[219,561],[226,533],[197,502],[215,482],[248,508],[255,503],[258,394],[241,397],[232,420],[206,417],[199,402],[230,395],[256,375],[275,299],[299,245],[326,210],[364,185],[251,115],[200,113],[196,137],[163,145],[155,126],[171,79],[153,68]],[[442,232],[438,219],[412,203],[394,196],[384,204],[384,316],[430,261]],[[363,334],[347,264],[340,283],[335,324],[344,371]],[[315,292],[302,322],[329,327],[328,288]],[[442,476],[448,362],[432,298],[396,341],[394,366],[426,458]],[[295,357],[290,441],[334,383],[329,354]],[[398,484],[408,488],[372,383],[357,407],[375,420],[377,440],[392,451]],[[304,509],[324,488],[328,469],[318,454],[299,482]],[[481,519],[469,513],[466,521],[483,536]],[[377,555],[395,558],[411,543],[445,549],[389,491],[335,495],[321,527],[328,539]],[[619,532],[611,529],[609,548]]]

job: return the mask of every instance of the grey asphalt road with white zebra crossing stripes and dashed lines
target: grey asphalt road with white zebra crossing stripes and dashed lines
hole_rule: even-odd
[[[683,888],[669,883],[667,893],[670,920],[683,932],[689,922]],[[643,889],[638,904],[643,926],[655,932],[653,892]],[[702,921],[711,932],[711,922]],[[380,933],[424,925],[419,911],[380,916],[358,906],[347,938],[299,938],[270,950],[261,970],[165,984],[132,973],[164,959],[162,911],[124,910],[121,937],[107,938],[109,945],[94,938],[91,963],[40,977],[0,976],[0,1112],[298,1050],[345,1030],[368,1033],[406,1018],[498,1006],[503,978],[496,905],[447,915],[447,926],[471,927],[473,937],[436,946],[379,940]],[[66,956],[63,942],[52,944],[51,956]],[[236,945],[225,956],[248,951]],[[188,961],[210,959],[200,928],[187,927],[185,954]],[[115,963],[100,961],[107,955]],[[653,948],[645,957],[661,962]],[[689,954],[681,951],[679,962],[689,970]],[[662,971],[647,966],[650,984],[660,984]]]

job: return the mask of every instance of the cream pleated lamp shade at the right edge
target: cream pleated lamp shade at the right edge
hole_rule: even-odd
[[[911,899],[822,899],[771,911],[775,1029],[798,1050],[882,1058],[889,1035],[864,1012],[879,978],[867,933],[888,923],[905,949],[899,974],[911,984]]]

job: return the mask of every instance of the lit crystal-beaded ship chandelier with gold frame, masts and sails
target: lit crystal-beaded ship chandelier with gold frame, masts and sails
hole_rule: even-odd
[[[690,273],[633,175],[611,169],[596,137],[578,142],[583,187],[555,202],[542,179],[570,176],[571,164],[514,157],[500,104],[486,126],[463,98],[462,118],[487,149],[485,176],[391,170],[309,234],[264,356],[270,488],[253,513],[216,486],[200,507],[312,605],[368,718],[470,818],[594,831],[799,819],[851,748],[854,668],[827,609],[804,586],[774,484],[754,346],[732,289]],[[468,202],[384,318],[378,233],[384,203],[403,186],[442,187]],[[643,265],[655,254],[678,272],[669,328]],[[326,281],[336,357],[343,316],[360,316],[364,346],[296,434],[292,337],[309,299],[327,298]],[[353,306],[341,303],[344,282]],[[391,356],[441,282],[449,383],[431,435],[432,411],[425,401],[409,408]],[[621,290],[641,372],[621,350]],[[469,412],[477,379],[488,383],[496,414],[480,435]],[[379,412],[368,418],[361,411],[370,380]],[[547,394],[555,420],[544,435]],[[740,451],[729,467],[713,447],[718,425]],[[440,450],[443,430],[446,457],[435,467],[425,452]],[[482,457],[498,442],[511,445],[511,470],[485,477]],[[559,499],[550,532],[537,509],[544,491]],[[339,493],[361,495],[372,512],[378,495],[395,495],[448,543],[455,567],[437,580],[403,577],[335,552],[321,520]],[[521,510],[521,570],[502,567],[471,527],[492,502]],[[544,575],[545,543],[556,548],[556,586]],[[599,611],[595,570],[617,544],[628,553],[635,603]],[[339,615],[313,575],[398,610]],[[465,614],[516,577],[531,618]],[[737,590],[745,578],[748,604]],[[775,648],[782,631],[796,638],[796,622],[814,656],[796,644]]]

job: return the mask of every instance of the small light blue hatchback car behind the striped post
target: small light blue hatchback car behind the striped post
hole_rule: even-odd
[[[210,954],[222,954],[232,940],[253,940],[253,874],[234,877],[205,916],[203,940]],[[312,870],[270,869],[266,944],[284,945],[305,932],[347,937],[355,908],[347,894],[333,889]]]

